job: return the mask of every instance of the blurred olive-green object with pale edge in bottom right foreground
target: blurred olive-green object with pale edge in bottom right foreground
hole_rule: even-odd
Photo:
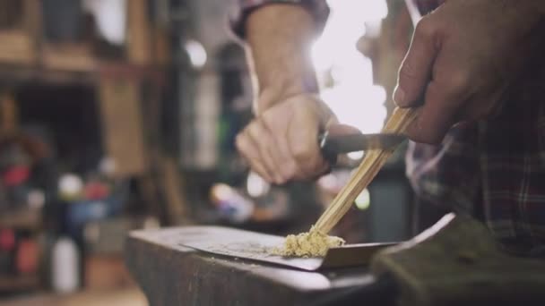
[[[394,278],[402,306],[545,305],[545,260],[510,256],[471,217],[446,215],[371,269]]]

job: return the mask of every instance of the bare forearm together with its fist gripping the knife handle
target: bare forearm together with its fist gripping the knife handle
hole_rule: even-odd
[[[308,52],[316,37],[312,14],[296,4],[268,4],[246,22],[247,55],[255,82],[255,120],[238,134],[237,147],[270,183],[316,177],[327,168],[318,132],[336,122],[316,98]]]

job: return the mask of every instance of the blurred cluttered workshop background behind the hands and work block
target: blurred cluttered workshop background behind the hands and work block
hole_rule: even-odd
[[[328,1],[312,47],[342,123],[379,132],[411,38],[404,2]],[[228,225],[305,231],[348,181],[271,186],[234,138],[251,119],[236,0],[0,0],[0,302],[145,305],[125,269],[140,228]],[[411,235],[403,151],[333,234]]]

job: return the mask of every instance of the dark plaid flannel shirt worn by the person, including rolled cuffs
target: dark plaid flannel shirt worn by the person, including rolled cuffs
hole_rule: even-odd
[[[407,1],[422,14],[444,2]],[[271,2],[303,4],[322,20],[327,16],[320,0],[240,0],[241,12]],[[407,151],[407,174],[420,199],[480,217],[518,253],[545,242],[545,69],[527,76],[498,115],[455,126],[438,146],[411,142]]]

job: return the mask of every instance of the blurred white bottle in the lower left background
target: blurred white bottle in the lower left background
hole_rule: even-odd
[[[75,242],[61,236],[53,246],[51,285],[56,293],[74,293],[80,286],[80,257]]]

